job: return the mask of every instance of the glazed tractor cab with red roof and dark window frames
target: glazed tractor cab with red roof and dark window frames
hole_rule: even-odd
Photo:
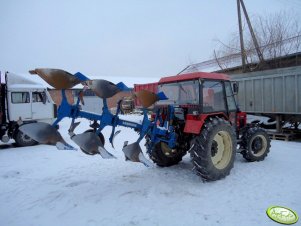
[[[160,80],[158,91],[163,91],[168,100],[157,102],[157,106],[174,105],[178,118],[219,114],[233,118],[234,124],[237,106],[227,75],[197,72],[165,77]]]

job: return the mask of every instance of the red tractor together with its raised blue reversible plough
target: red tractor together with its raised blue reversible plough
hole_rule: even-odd
[[[114,138],[120,133],[116,127],[129,127],[135,129],[139,137],[132,144],[125,141],[122,151],[126,160],[151,165],[139,144],[145,138],[147,153],[158,166],[175,165],[190,152],[194,171],[208,181],[221,179],[230,173],[236,152],[240,152],[247,161],[261,161],[270,149],[265,130],[257,125],[247,125],[246,113],[238,109],[234,99],[238,87],[232,87],[224,74],[197,72],[165,77],[158,83],[158,93],[147,90],[136,92],[135,98],[143,106],[142,123],[137,123],[119,117],[121,101],[115,114],[108,109],[107,98],[128,90],[122,82],[113,84],[101,79],[91,80],[79,72],[70,74],[59,69],[35,69],[30,73],[39,75],[54,88],[62,90],[58,117],[52,125],[38,122],[20,127],[24,134],[42,144],[56,145],[58,149],[74,149],[57,130],[58,123],[69,117],[72,119],[68,130],[70,138],[84,153],[114,158],[104,147],[101,131],[106,126],[112,127],[109,141],[114,147]],[[78,94],[74,105],[68,103],[65,89],[79,83],[102,98],[102,114],[81,110],[83,92]],[[152,105],[154,113],[149,118],[148,108]],[[93,121],[92,129],[76,134],[78,118]]]

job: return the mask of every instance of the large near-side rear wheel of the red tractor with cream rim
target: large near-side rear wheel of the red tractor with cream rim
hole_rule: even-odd
[[[208,120],[191,150],[194,170],[204,180],[215,181],[230,174],[236,155],[236,136],[229,122]]]

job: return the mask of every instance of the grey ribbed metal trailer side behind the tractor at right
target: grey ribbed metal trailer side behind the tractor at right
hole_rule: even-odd
[[[230,75],[239,83],[237,101],[248,113],[301,114],[301,67]]]

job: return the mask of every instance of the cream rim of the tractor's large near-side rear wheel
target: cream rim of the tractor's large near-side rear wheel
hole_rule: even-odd
[[[232,139],[228,132],[218,132],[211,145],[211,160],[217,169],[224,169],[228,166],[232,156]]]

